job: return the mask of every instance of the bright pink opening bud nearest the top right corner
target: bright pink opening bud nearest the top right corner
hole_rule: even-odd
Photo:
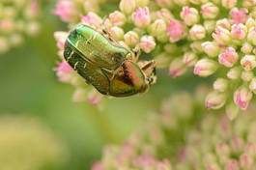
[[[232,9],[230,12],[232,23],[235,23],[235,24],[245,23],[248,17],[247,13],[248,12],[246,9],[238,9],[238,8]]]

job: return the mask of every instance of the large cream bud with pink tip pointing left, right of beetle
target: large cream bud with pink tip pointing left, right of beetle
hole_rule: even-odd
[[[217,70],[217,64],[210,59],[204,58],[199,60],[194,67],[194,74],[202,77],[209,76]]]

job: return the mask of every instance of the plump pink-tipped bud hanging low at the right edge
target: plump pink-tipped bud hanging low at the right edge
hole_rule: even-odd
[[[246,110],[251,99],[252,93],[246,87],[242,86],[234,93],[234,102],[242,110]]]

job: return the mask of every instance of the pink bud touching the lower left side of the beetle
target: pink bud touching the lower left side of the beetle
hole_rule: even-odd
[[[59,63],[55,71],[60,82],[69,82],[71,80],[72,68],[66,61]]]

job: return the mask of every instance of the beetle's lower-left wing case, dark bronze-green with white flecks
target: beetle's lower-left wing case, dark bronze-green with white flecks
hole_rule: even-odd
[[[92,84],[101,94],[107,95],[109,80],[100,68],[86,61],[77,51],[73,50],[69,42],[65,44],[64,57],[74,71],[77,71],[89,84]]]

